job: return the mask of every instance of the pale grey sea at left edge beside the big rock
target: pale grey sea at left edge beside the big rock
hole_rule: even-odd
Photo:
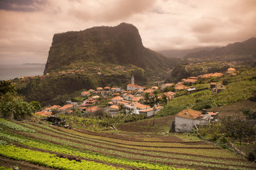
[[[44,68],[45,64],[0,65],[0,80],[42,75]]]

